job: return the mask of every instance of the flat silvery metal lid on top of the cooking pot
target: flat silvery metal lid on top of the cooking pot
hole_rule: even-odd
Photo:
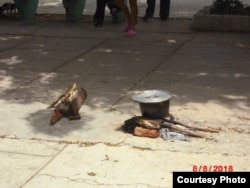
[[[162,90],[147,90],[134,95],[132,99],[140,103],[158,103],[167,101],[172,97],[172,94],[168,91]]]

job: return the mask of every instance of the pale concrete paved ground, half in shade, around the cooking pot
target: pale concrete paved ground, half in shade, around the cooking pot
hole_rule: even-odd
[[[172,187],[193,165],[250,164],[250,34],[195,32],[191,19],[94,28],[91,17],[0,19],[1,187]],[[46,107],[74,81],[88,92],[82,119],[49,126]],[[173,93],[179,121],[220,128],[207,139],[170,141],[121,130],[140,115],[131,97]]]

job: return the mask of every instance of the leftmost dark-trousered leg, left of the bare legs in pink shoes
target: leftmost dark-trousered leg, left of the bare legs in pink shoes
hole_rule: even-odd
[[[96,0],[96,10],[94,14],[94,26],[101,27],[104,16],[105,16],[105,7],[107,0]]]

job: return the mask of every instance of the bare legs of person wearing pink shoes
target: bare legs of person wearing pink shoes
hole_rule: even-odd
[[[138,5],[137,0],[129,0],[130,9],[127,6],[126,0],[115,0],[116,5],[121,9],[125,14],[128,24],[125,27],[125,36],[133,37],[136,35],[135,26],[137,24],[138,16]]]

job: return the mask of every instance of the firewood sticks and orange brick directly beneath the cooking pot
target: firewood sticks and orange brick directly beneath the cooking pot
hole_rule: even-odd
[[[136,136],[156,138],[161,128],[168,128],[188,136],[206,138],[202,132],[218,133],[220,129],[205,126],[187,125],[172,119],[149,119],[143,116],[135,116],[125,121],[125,131]]]

